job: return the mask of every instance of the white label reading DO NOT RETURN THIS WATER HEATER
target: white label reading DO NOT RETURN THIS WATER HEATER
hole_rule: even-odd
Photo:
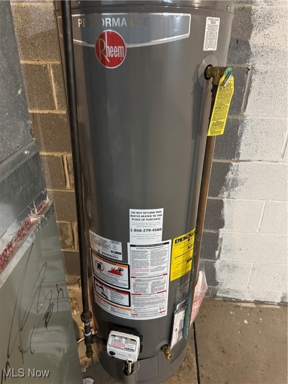
[[[129,209],[130,243],[151,244],[162,241],[163,208]]]

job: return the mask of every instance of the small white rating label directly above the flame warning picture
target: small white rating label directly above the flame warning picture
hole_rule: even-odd
[[[89,236],[91,248],[97,253],[116,260],[122,260],[121,242],[99,236],[91,230],[89,230]]]

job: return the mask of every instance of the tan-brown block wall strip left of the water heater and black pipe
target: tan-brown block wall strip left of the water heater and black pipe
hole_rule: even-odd
[[[79,275],[72,159],[52,1],[11,1],[32,129],[66,272]]]

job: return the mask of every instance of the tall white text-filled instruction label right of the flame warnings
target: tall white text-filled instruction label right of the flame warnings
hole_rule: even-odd
[[[156,244],[128,243],[131,268],[131,317],[151,319],[167,314],[171,240]]]

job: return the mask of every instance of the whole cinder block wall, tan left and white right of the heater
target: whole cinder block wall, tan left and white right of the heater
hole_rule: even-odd
[[[32,127],[67,275],[79,275],[72,163],[51,1],[11,2]],[[235,92],[216,139],[201,257],[207,295],[287,301],[287,3],[237,1]]]

